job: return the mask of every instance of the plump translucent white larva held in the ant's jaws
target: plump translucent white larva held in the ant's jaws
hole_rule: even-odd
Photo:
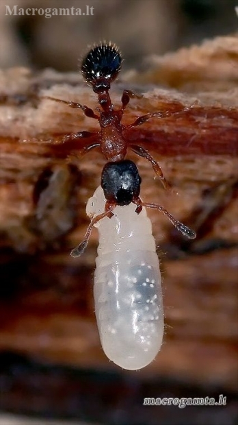
[[[101,186],[86,213],[101,214]],[[159,352],[163,339],[163,303],[159,260],[146,209],[116,206],[114,217],[96,223],[99,234],[94,273],[96,321],[107,357],[124,369],[142,369]]]

